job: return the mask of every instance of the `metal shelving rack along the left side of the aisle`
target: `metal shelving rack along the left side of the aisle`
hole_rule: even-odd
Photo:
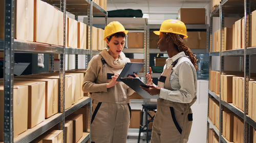
[[[88,117],[91,117],[91,98],[83,97],[78,103],[72,105],[67,110],[65,108],[65,55],[66,54],[86,54],[88,64],[94,51],[90,49],[77,49],[77,48],[66,48],[66,10],[75,14],[76,19],[78,15],[88,15],[89,36],[88,46],[91,47],[91,29],[92,29],[92,16],[100,15],[107,17],[107,12],[95,4],[92,0],[45,0],[45,2],[59,7],[64,13],[64,29],[63,29],[63,46],[54,46],[49,44],[35,43],[20,41],[14,39],[15,31],[15,0],[5,0],[5,39],[0,40],[0,50],[4,51],[4,142],[31,142],[36,137],[45,133],[47,130],[60,124],[60,129],[65,131],[65,117],[70,115],[75,110],[79,109],[84,105],[88,105]],[[106,23],[106,22],[105,22]],[[49,71],[53,72],[53,54],[60,54],[59,63],[59,109],[58,113],[44,122],[35,126],[32,129],[28,129],[24,133],[13,137],[13,82],[14,82],[14,52],[23,53],[48,53],[49,58]],[[95,51],[97,52],[97,51]],[[76,56],[76,68],[77,68],[77,56]],[[87,124],[87,123],[86,123]],[[65,140],[65,133],[63,133],[63,140]],[[83,132],[82,138],[79,142],[91,142],[90,133]]]

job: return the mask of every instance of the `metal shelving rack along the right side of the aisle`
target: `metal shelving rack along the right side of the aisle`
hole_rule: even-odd
[[[220,5],[215,8],[214,11],[212,11],[210,16],[210,37],[212,37],[212,20],[213,17],[220,17],[220,31],[221,31],[221,47],[219,52],[210,52],[209,58],[210,58],[210,64],[209,64],[209,70],[211,70],[211,59],[212,56],[220,56],[220,73],[224,73],[224,56],[243,56],[244,57],[244,78],[246,79],[244,81],[244,111],[238,109],[231,103],[226,103],[225,101],[221,100],[221,83],[220,83],[220,95],[217,96],[214,92],[209,91],[208,97],[209,98],[215,98],[219,101],[220,106],[220,131],[215,130],[215,132],[218,134],[219,142],[226,143],[226,139],[222,135],[222,110],[224,107],[228,108],[230,111],[235,113],[237,116],[242,118],[244,120],[244,143],[248,143],[250,140],[250,127],[256,128],[256,123],[252,119],[250,119],[248,114],[248,82],[250,79],[250,55],[256,55],[256,48],[250,47],[250,13],[251,8],[255,8],[256,3],[250,0],[244,0],[244,1],[228,1],[228,0],[222,0]],[[243,13],[244,12],[244,13]],[[245,34],[245,42],[244,42],[244,49],[235,49],[235,50],[227,50],[222,51],[224,48],[224,17],[244,17],[244,34]],[[212,39],[210,39],[211,43]],[[221,81],[221,80],[220,80]],[[208,106],[209,110],[209,106]],[[208,119],[207,122],[207,140],[208,140],[208,129],[209,124],[212,124],[211,121]]]

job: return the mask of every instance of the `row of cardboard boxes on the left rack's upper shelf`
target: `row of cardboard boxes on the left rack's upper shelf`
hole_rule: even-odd
[[[4,10],[4,1],[1,3]],[[99,4],[106,7],[106,0]],[[63,46],[63,12],[40,0],[20,0],[16,7],[15,39]],[[4,12],[0,15],[0,39],[4,39],[3,14]],[[67,47],[87,49],[87,31],[86,24],[66,16]],[[93,49],[102,50],[106,47],[102,39],[103,30],[93,27]]]

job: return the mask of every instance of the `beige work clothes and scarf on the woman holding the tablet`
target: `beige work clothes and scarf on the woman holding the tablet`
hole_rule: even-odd
[[[117,61],[121,61],[121,64],[115,64],[118,63]],[[117,61],[106,49],[103,49],[89,62],[84,76],[83,91],[89,92],[93,101],[91,138],[95,143],[126,143],[131,118],[130,100],[127,95],[131,95],[134,91],[123,82],[118,82],[109,89],[100,90],[97,87],[94,89],[96,84],[106,86],[106,83],[112,80],[111,76],[115,73],[120,74],[124,65],[130,62],[122,52]],[[90,72],[98,75],[95,76]]]

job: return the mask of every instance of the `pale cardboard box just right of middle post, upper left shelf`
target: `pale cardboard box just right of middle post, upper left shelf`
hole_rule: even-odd
[[[68,47],[77,48],[77,21],[68,17]]]

